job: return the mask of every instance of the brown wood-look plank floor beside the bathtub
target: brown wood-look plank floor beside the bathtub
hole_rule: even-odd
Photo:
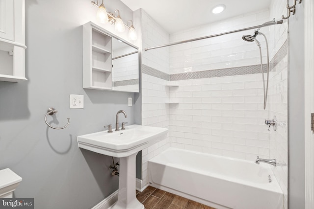
[[[136,191],[136,198],[145,209],[214,209],[152,186],[142,192]]]

